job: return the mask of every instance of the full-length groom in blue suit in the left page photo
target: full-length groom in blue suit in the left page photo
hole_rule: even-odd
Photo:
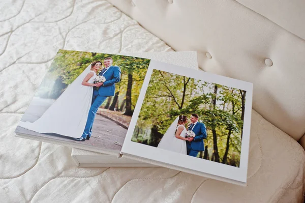
[[[92,105],[89,110],[85,130],[80,138],[74,138],[74,140],[85,141],[85,139],[89,139],[91,137],[94,118],[99,107],[107,97],[114,96],[115,83],[120,81],[121,71],[119,67],[112,66],[112,63],[113,60],[111,57],[104,59],[105,68],[99,73],[99,75],[104,76],[106,81],[97,83],[99,89],[97,90],[95,88],[93,90]]]

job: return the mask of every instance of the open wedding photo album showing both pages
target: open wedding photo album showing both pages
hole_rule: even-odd
[[[252,89],[155,60],[59,50],[15,132],[246,185]]]

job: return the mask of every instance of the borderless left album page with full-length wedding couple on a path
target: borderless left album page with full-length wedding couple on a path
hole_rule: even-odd
[[[59,50],[17,136],[118,154],[149,59]]]

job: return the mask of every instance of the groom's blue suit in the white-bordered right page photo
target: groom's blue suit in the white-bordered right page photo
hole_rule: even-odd
[[[197,157],[200,151],[204,151],[204,141],[206,139],[206,127],[203,123],[197,123],[192,131],[195,133],[193,141],[187,141],[187,154],[193,157]]]

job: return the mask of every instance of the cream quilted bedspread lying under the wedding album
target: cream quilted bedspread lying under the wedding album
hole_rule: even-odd
[[[1,202],[301,201],[303,149],[255,111],[247,187],[162,167],[78,168],[71,148],[14,137],[57,49],[172,49],[106,1],[5,0],[0,12]]]

